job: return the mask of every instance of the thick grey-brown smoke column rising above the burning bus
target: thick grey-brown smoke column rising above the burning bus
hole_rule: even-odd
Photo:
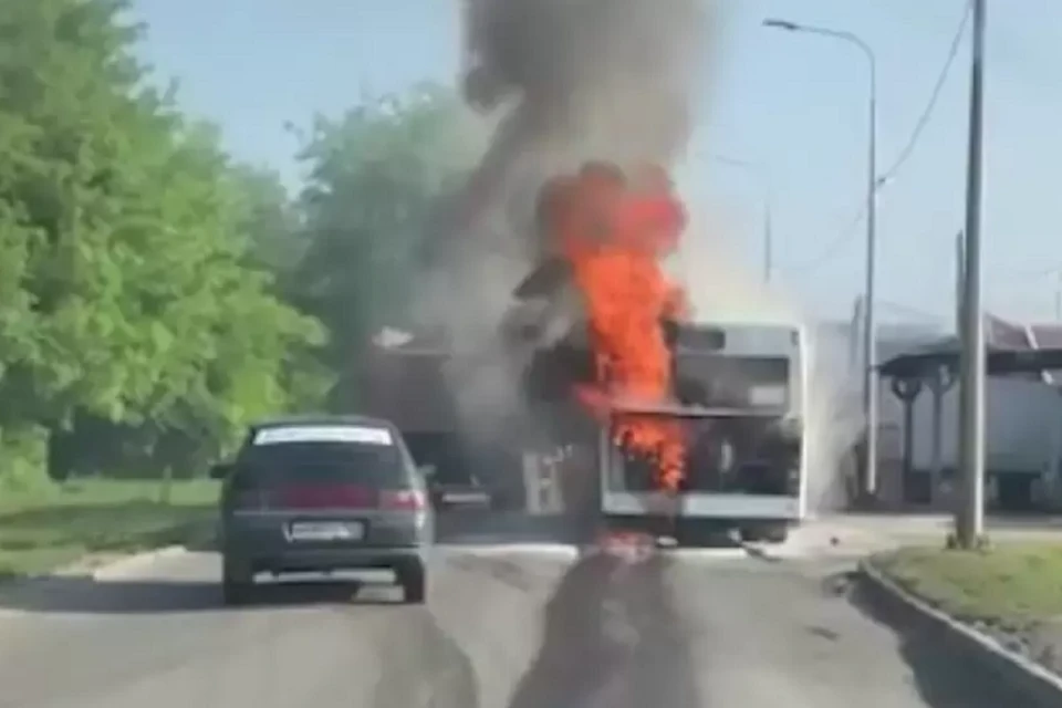
[[[539,258],[535,195],[586,159],[670,165],[693,125],[711,29],[707,0],[464,0],[469,105],[494,122],[440,225],[420,311],[458,347],[450,381],[469,428],[519,408],[521,362],[500,348],[512,288]]]

